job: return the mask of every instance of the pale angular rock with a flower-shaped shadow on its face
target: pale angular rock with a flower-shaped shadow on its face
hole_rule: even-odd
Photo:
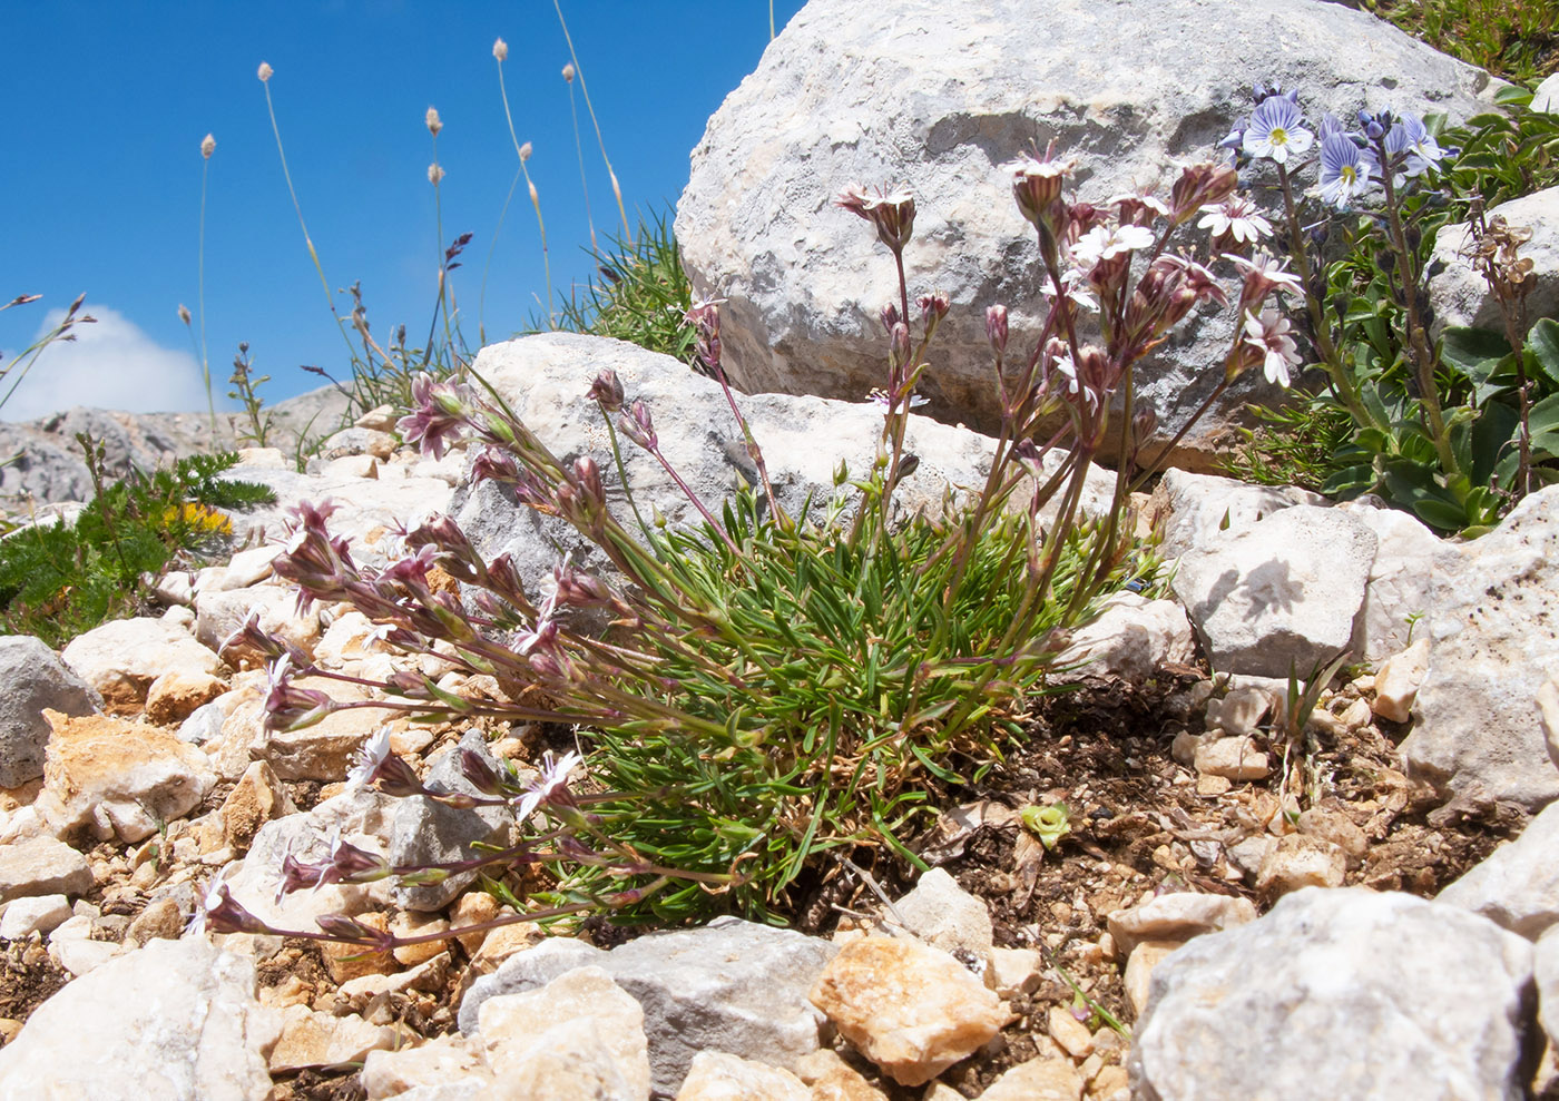
[[[1183,557],[1174,593],[1214,669],[1308,677],[1353,646],[1375,544],[1347,513],[1294,505]]]

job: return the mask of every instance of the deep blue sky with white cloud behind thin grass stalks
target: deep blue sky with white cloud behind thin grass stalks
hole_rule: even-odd
[[[800,9],[775,0],[775,27]],[[769,45],[767,0],[563,0],[578,64],[630,220],[663,214],[688,179],[708,117]],[[437,159],[444,243],[472,232],[455,293],[475,343],[482,271],[518,159],[533,143],[555,293],[592,264],[561,76],[569,48],[552,0],[510,3],[31,3],[9,5],[0,70],[12,156],[0,173],[5,248],[0,366],[80,293],[100,324],[56,345],[0,420],[72,404],[196,409],[206,390],[179,304],[196,312],[201,139],[217,140],[206,206],[206,346],[218,409],[240,340],[270,374],[270,401],[348,373],[348,352],[309,260],[256,76],[270,90],[310,237],[334,289],[362,281],[374,335],[426,334],[441,253],[427,167],[429,106],[444,123]],[[22,45],[25,44],[25,45]],[[589,209],[620,232],[600,148],[574,84]],[[524,181],[486,281],[488,338],[541,313],[541,243]],[[337,298],[343,313],[351,301]],[[0,382],[0,395],[9,387]]]

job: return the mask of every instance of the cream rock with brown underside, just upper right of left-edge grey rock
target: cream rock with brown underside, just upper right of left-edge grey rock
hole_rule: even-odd
[[[167,619],[115,619],[78,635],[59,657],[117,713],[137,711],[151,681],[173,669],[221,674],[217,655]]]

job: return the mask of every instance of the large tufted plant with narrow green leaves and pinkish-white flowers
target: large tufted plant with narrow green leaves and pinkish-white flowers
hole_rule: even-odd
[[[507,558],[485,561],[447,518],[407,532],[408,557],[362,571],[331,535],[329,507],[302,505],[287,554],[273,563],[278,575],[306,599],[351,602],[408,653],[437,643],[458,669],[491,675],[505,700],[463,699],[405,674],[380,686],[387,699],[338,702],[293,678],[340,674],[246,630],[242,644],[276,660],[273,728],[359,706],[577,727],[591,778],[605,791],[589,795],[586,817],[552,819],[569,844],[538,836],[560,866],[557,889],[541,898],[547,912],[620,900],[613,887],[628,878],[639,894],[616,905],[619,920],[684,920],[711,909],[775,919],[828,853],[848,859],[853,848],[875,847],[912,861],[906,837],[929,792],[967,783],[999,756],[1024,699],[1062,650],[1063,628],[1127,580],[1152,583],[1151,552],[1126,535],[1137,434],[1151,429],[1133,410],[1132,370],[1191,309],[1230,299],[1190,250],[1169,251],[1171,240],[1191,235],[1180,231],[1207,203],[1230,195],[1228,168],[1185,168],[1172,206],[1126,198],[1104,209],[1062,196],[1068,164],[1021,158],[1009,170],[1055,293],[1032,354],[1012,349],[1010,360],[1007,312],[987,310],[1004,416],[984,485],[953,494],[935,515],[896,512],[895,490],[918,465],[906,449],[909,410],[949,307],[935,293],[915,299],[910,335],[903,251],[914,198],[853,187],[839,204],[873,226],[898,270],[896,301],[882,310],[887,370],[875,395],[882,426],[868,469],[837,471],[828,499],[798,515],[781,507],[720,366],[711,303],[694,306],[688,321],[751,460],[750,485],[719,515],[681,480],[649,407],[630,401],[616,376],[602,373],[588,395],[613,454],[627,437],[677,480],[702,518],[691,527],[644,522],[630,485],[620,491],[633,519],[619,518],[594,457],[558,458],[490,388],[422,376],[416,409],[401,423],[405,438],[435,455],[457,435],[485,444],[472,476],[571,524],[616,577],[561,561],[552,589],[533,596]],[[1236,271],[1238,309],[1260,312],[1272,281],[1253,265]],[[1221,382],[1261,363],[1286,370],[1291,351],[1241,332]],[[1115,395],[1124,409],[1112,407]],[[1045,427],[1055,416],[1063,427]],[[1084,485],[1116,416],[1126,430],[1115,494],[1091,519],[1082,513]],[[465,602],[433,591],[435,565],[469,586]],[[610,618],[613,630],[602,638],[574,628],[571,608]],[[387,755],[369,777],[399,794],[412,789],[407,769]],[[514,798],[507,783],[482,777],[496,800]],[[583,806],[577,797],[574,805]],[[519,803],[522,812],[536,808]],[[491,862],[514,859],[504,853]]]

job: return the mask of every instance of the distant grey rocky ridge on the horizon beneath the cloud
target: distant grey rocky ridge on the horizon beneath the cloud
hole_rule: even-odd
[[[341,427],[346,395],[321,387],[278,402],[268,443],[292,455],[304,441],[323,438]],[[218,413],[212,432],[207,413],[125,413],[76,405],[34,421],[0,423],[0,508],[11,515],[61,501],[90,501],[92,477],[76,443],[87,432],[104,446],[111,479],[131,466],[154,469],[175,458],[239,446],[240,413]]]

